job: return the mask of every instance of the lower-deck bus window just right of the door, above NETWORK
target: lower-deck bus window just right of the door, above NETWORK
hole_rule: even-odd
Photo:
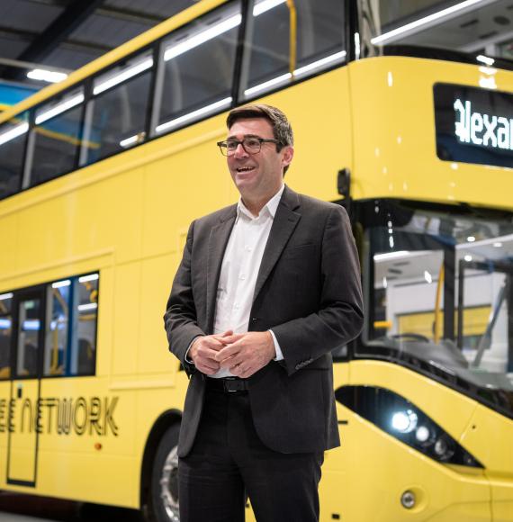
[[[94,374],[97,300],[97,274],[48,285],[44,376]]]

